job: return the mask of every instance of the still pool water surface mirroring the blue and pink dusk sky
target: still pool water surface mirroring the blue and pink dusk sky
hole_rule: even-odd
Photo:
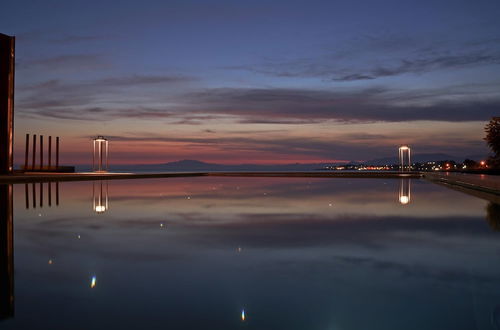
[[[494,329],[500,317],[500,233],[487,202],[453,190],[412,180],[403,205],[398,180],[110,181],[96,213],[96,185],[60,183],[58,206],[29,209],[15,186],[15,317],[2,329]]]

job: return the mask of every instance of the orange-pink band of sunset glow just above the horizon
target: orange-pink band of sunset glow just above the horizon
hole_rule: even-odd
[[[60,136],[63,165],[91,164],[91,137],[102,134],[109,139],[111,169],[115,164],[161,164],[185,159],[227,165],[343,163],[391,157],[394,147],[402,143],[419,146],[421,153],[455,155],[454,148],[463,149],[460,141],[481,141],[484,123],[439,123],[439,129],[435,122],[424,121],[252,126],[224,121],[172,125],[168,130],[165,125],[141,118],[134,122],[110,121],[102,123],[102,127],[87,122],[23,119],[16,122],[14,162],[17,166],[24,163],[25,132]],[[468,133],[458,142],[450,140],[449,136],[457,131]]]

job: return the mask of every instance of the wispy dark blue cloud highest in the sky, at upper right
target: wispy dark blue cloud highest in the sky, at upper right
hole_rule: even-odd
[[[398,34],[361,35],[335,46],[323,55],[296,59],[266,59],[262,63],[227,66],[290,78],[316,77],[337,82],[373,80],[402,74],[423,74],[443,69],[500,64],[498,37],[465,40],[429,40]],[[367,57],[373,56],[369,61]]]

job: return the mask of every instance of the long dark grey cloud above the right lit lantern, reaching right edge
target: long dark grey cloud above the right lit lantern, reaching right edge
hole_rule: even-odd
[[[411,95],[411,93],[408,93]],[[406,93],[395,95],[381,88],[357,92],[305,89],[211,89],[186,95],[189,112],[240,116],[243,122],[303,123],[318,120],[469,121],[487,120],[498,113],[499,100],[435,101],[406,106]]]

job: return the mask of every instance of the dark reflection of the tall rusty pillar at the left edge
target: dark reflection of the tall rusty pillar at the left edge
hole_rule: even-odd
[[[14,316],[12,185],[0,185],[0,319]]]

